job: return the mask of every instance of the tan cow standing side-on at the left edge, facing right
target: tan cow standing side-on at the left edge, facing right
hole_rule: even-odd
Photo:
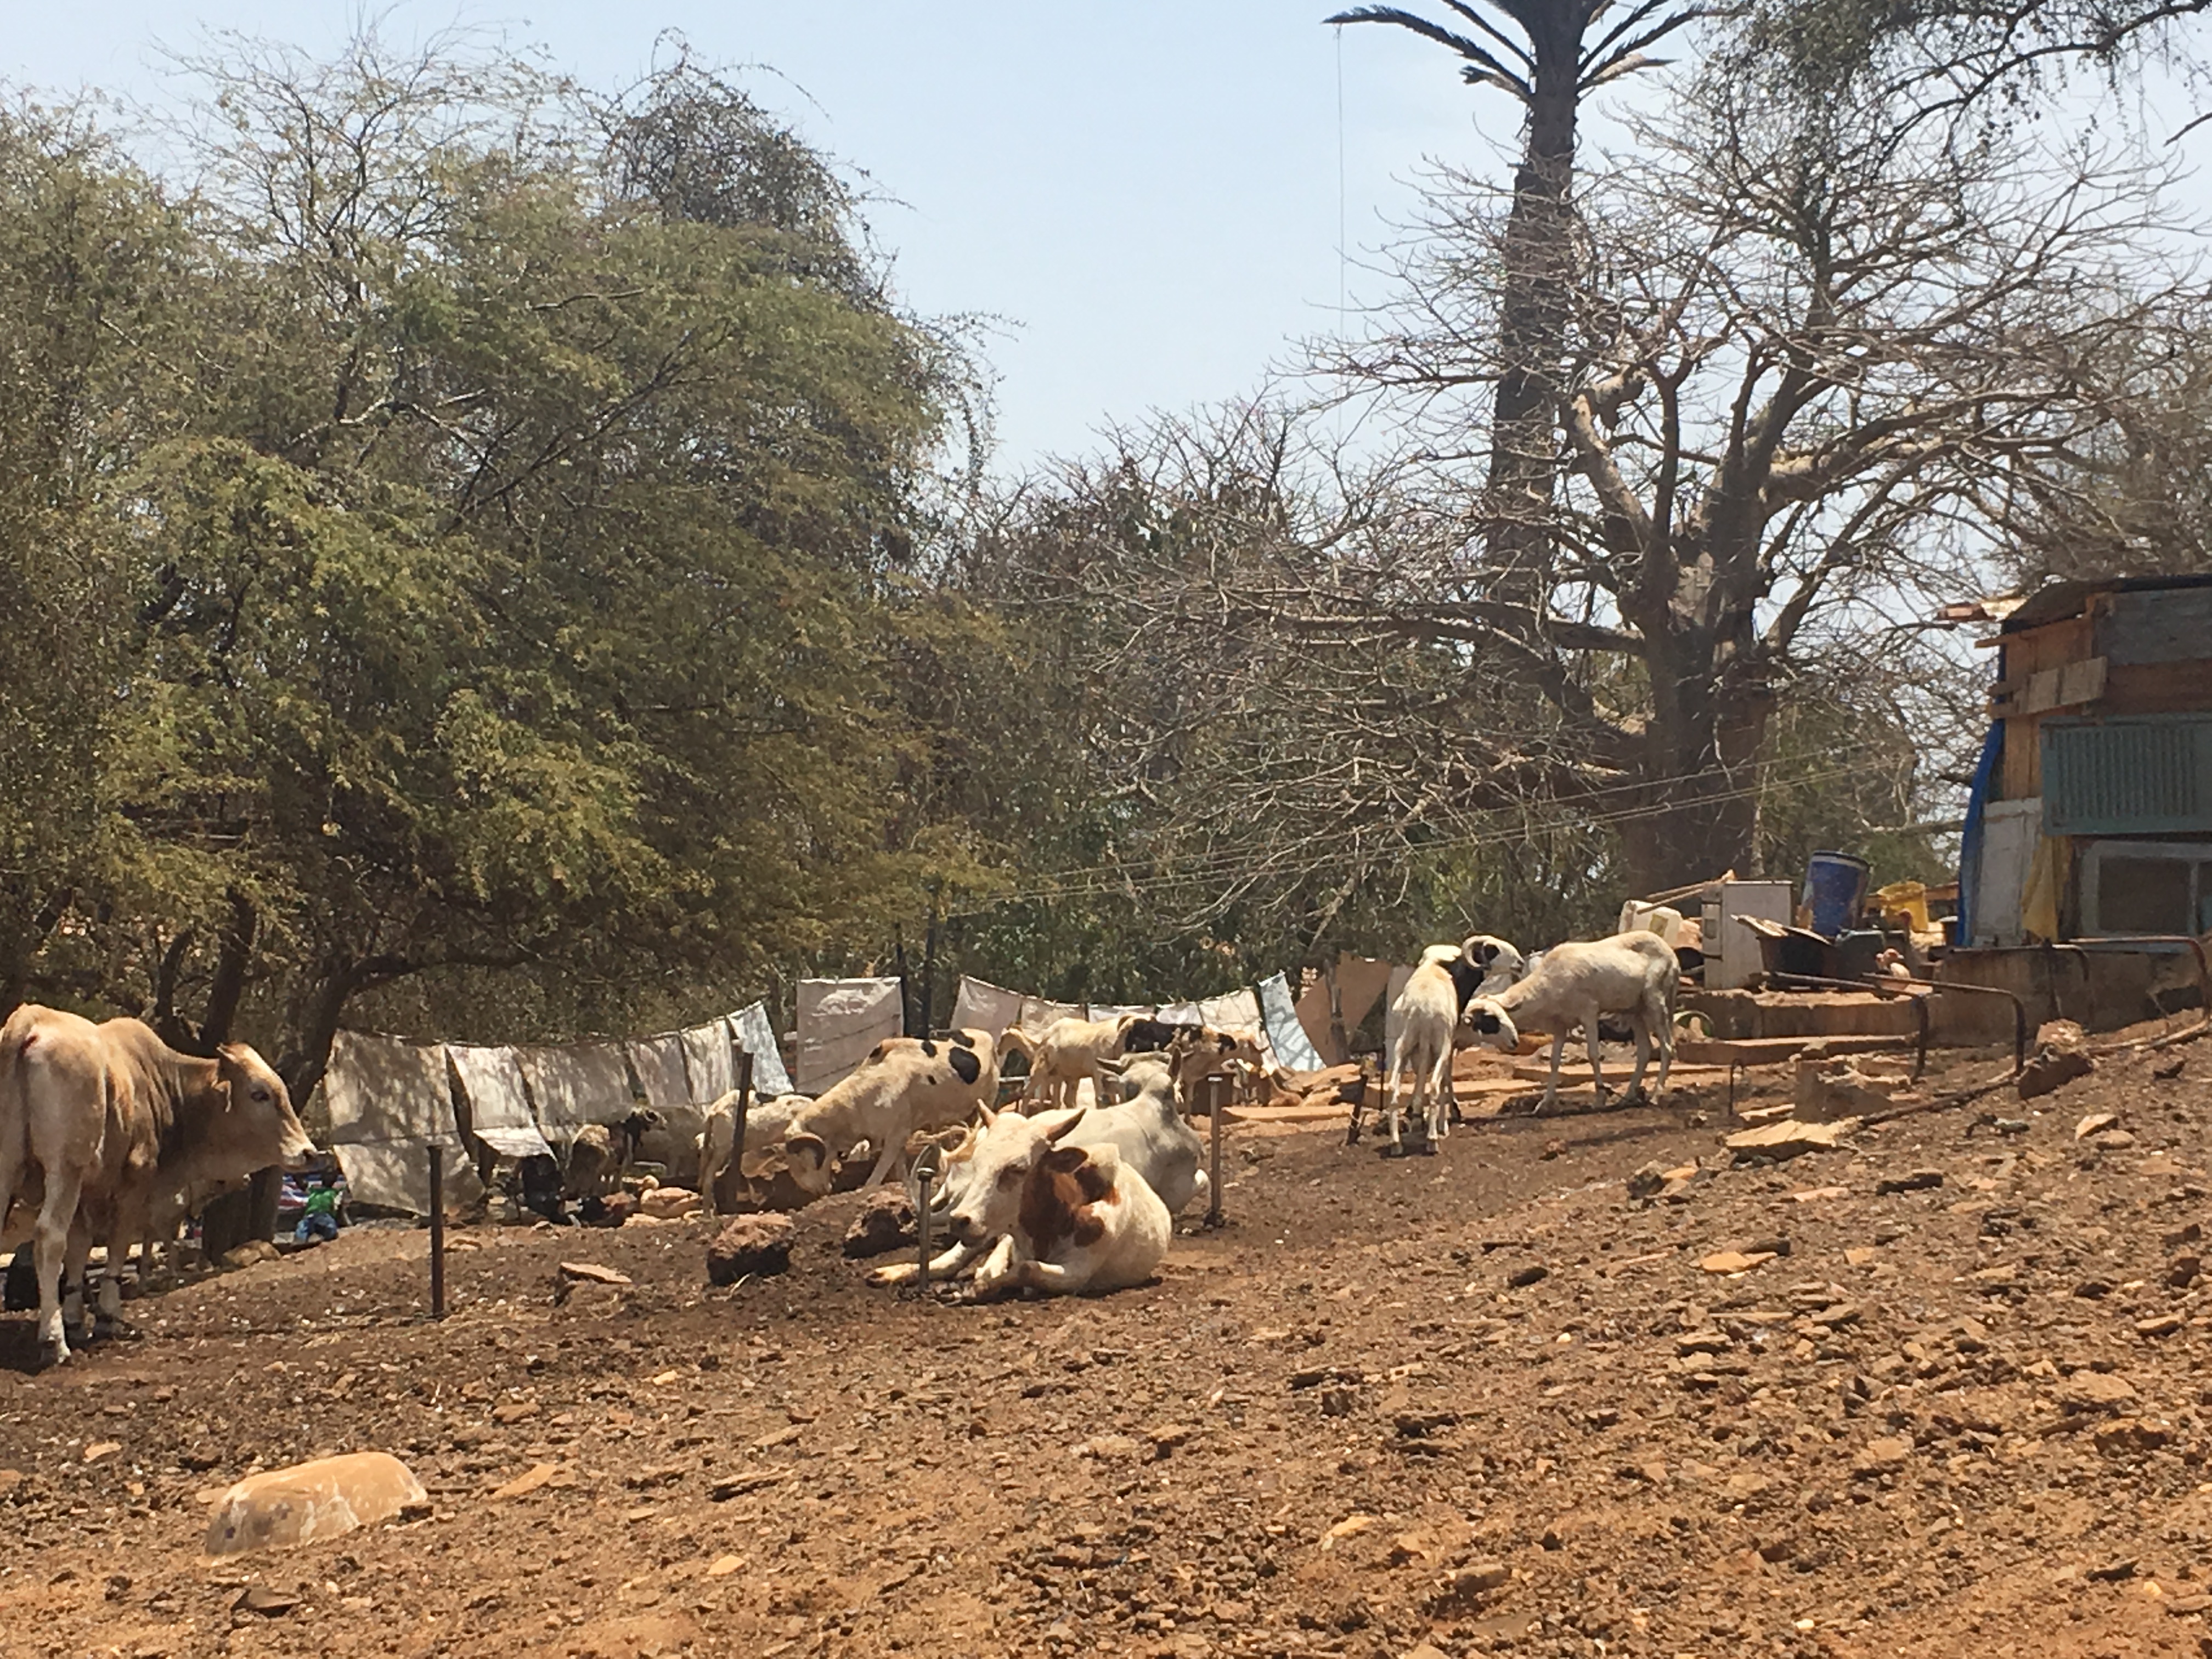
[[[64,1267],[82,1285],[95,1239],[113,1314],[122,1256],[179,1192],[312,1157],[283,1079],[246,1044],[195,1060],[139,1020],[95,1026],[35,1004],[0,1024],[0,1223],[18,1197],[38,1210],[38,1340],[55,1363]]]

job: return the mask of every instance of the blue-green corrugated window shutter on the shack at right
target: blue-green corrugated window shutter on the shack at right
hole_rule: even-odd
[[[2044,834],[2212,830],[2212,717],[2044,721]]]

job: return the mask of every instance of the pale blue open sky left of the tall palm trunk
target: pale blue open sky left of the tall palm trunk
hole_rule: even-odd
[[[15,0],[0,77],[166,95],[157,46],[243,29],[338,40],[343,0]],[[1336,327],[1338,46],[1327,0],[405,0],[385,31],[456,20],[544,44],[615,86],[684,31],[708,60],[768,64],[765,102],[896,197],[872,212],[927,312],[993,312],[1000,467],[1095,447],[1108,420],[1261,383]],[[803,95],[801,91],[803,88]],[[1495,170],[1506,100],[1396,29],[1347,29],[1354,257],[1413,208],[1422,157]],[[173,95],[173,91],[168,93]],[[812,100],[812,102],[810,102]],[[1478,128],[1480,115],[1480,128]],[[1352,272],[1376,296],[1378,281]]]

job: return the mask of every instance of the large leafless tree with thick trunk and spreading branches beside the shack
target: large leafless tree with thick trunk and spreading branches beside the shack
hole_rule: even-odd
[[[1617,830],[1650,891],[1759,867],[1761,796],[1805,774],[1776,750],[1785,699],[1851,672],[1909,737],[1913,681],[1944,672],[1918,617],[2081,495],[2157,400],[2101,365],[2179,327],[2154,179],[1909,124],[1710,77],[1584,188],[1533,604],[1495,595],[1464,476],[1515,206],[1464,179],[1394,327],[1336,363],[1398,434],[1389,465],[1245,414],[1068,480],[1082,507],[1037,564],[1110,646],[1119,776],[1183,836],[1161,856],[1323,914],[1517,821]],[[1927,812],[1909,741],[1827,770],[1889,779],[1891,825]]]

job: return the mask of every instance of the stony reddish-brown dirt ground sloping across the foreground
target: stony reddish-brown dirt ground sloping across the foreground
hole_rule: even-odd
[[[60,1371],[13,1316],[0,1655],[2212,1652],[2208,1079],[1752,1168],[1710,1088],[1433,1159],[1239,1128],[1228,1228],[1102,1301],[869,1290],[843,1197],[734,1290],[710,1221],[467,1230],[434,1325],[425,1234],[354,1230]],[[555,1305],[564,1259],[635,1283]],[[201,1555],[354,1449],[431,1513]]]

